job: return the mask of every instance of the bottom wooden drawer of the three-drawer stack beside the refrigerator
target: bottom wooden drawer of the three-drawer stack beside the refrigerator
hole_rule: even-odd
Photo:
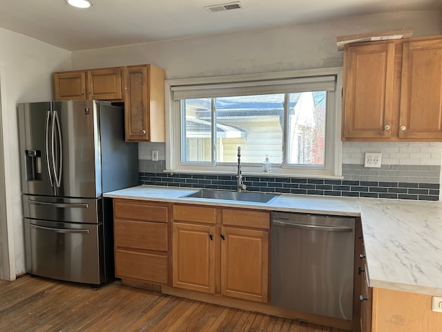
[[[167,256],[115,250],[115,276],[167,284]]]

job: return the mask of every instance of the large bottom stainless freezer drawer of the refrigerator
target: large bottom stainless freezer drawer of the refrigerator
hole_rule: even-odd
[[[25,218],[28,273],[68,282],[102,284],[103,225],[57,223]]]

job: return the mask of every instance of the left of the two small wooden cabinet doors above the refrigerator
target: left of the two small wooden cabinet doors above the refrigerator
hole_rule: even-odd
[[[87,99],[86,73],[54,73],[54,100]]]

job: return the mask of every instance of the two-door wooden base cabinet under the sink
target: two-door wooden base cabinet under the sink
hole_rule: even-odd
[[[269,225],[269,212],[174,205],[173,286],[267,303]]]

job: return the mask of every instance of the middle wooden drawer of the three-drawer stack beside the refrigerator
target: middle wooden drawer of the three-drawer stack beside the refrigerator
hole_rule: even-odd
[[[167,224],[115,219],[115,247],[167,251]]]

